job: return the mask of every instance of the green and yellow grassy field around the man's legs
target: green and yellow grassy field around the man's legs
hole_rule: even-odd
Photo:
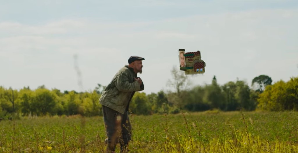
[[[130,116],[131,152],[298,152],[298,112]],[[0,122],[0,152],[104,152],[102,117]],[[119,146],[117,146],[119,152]]]

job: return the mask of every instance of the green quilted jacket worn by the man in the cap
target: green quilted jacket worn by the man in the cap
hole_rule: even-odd
[[[144,90],[144,83],[140,86],[139,82],[134,81],[135,77],[137,74],[134,73],[134,69],[125,65],[105,87],[99,103],[124,114],[134,93]]]

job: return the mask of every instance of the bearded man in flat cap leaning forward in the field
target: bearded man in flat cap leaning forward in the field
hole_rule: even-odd
[[[139,56],[131,56],[128,65],[121,68],[103,91],[99,101],[103,106],[103,119],[108,138],[107,152],[115,152],[120,143],[121,152],[128,151],[131,140],[131,123],[128,108],[131,98],[136,91],[144,90],[142,79],[137,73],[142,73],[142,60]]]

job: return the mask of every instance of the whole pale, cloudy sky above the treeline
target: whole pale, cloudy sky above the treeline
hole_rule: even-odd
[[[288,81],[298,75],[297,27],[297,0],[1,1],[0,86],[93,90],[138,55],[144,92],[156,93],[179,68],[179,49],[206,62],[192,85],[214,75],[221,85]]]

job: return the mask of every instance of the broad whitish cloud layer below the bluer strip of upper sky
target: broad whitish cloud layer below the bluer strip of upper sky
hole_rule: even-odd
[[[84,89],[108,84],[130,55],[145,57],[140,74],[145,92],[157,92],[170,79],[178,49],[200,50],[206,73],[194,84],[223,84],[236,77],[250,82],[261,73],[288,79],[297,71],[297,10],[254,10],[173,18],[152,22],[60,20],[45,25],[0,23],[0,64],[5,86],[41,84],[78,90],[73,55],[77,54]],[[3,34],[3,35],[2,35]],[[291,52],[291,53],[288,53]],[[13,58],[12,58],[13,57]],[[157,61],[157,62],[156,62]],[[278,62],[277,62],[278,61]],[[23,67],[22,67],[23,66]],[[26,68],[24,70],[24,68]],[[281,69],[280,69],[281,68]],[[16,72],[8,73],[14,69]],[[18,72],[22,71],[22,77]],[[34,80],[30,80],[34,78]]]

